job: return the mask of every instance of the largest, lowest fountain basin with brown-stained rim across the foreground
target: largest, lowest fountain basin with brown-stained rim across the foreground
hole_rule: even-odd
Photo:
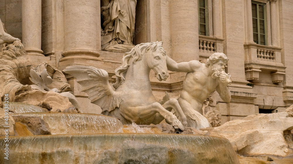
[[[176,134],[90,134],[0,138],[0,163],[231,163],[228,139]],[[4,144],[9,160],[4,161]]]

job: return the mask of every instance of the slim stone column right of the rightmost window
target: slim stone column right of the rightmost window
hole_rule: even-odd
[[[272,46],[278,45],[276,1],[270,0]]]

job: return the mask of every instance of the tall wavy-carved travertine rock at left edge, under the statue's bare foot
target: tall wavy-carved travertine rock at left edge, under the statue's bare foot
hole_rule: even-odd
[[[9,94],[9,101],[15,96],[31,91],[29,72],[32,69],[30,57],[23,48],[21,41],[1,45],[0,52],[0,96]]]

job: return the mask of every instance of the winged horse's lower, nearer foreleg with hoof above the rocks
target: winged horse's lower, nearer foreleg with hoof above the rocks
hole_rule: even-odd
[[[148,124],[152,122],[147,122],[147,120],[155,116],[157,113],[163,116],[166,122],[171,123],[173,126],[178,126],[181,130],[184,130],[184,126],[178,118],[172,112],[163,108],[158,102],[154,102],[153,104],[144,107],[129,107],[127,111],[120,111],[120,114],[127,120],[133,120],[136,123],[139,123],[141,120]]]

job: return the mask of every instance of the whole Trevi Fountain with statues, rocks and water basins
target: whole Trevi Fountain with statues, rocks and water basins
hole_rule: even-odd
[[[26,45],[0,26],[0,163],[292,163],[293,106],[221,123],[209,103],[215,90],[231,101],[227,55],[177,63],[165,42],[134,45],[136,3],[100,4],[101,48],[123,53],[115,74],[33,63]],[[151,81],[173,72],[185,73],[180,95],[156,97]],[[69,77],[101,114],[85,112]]]

